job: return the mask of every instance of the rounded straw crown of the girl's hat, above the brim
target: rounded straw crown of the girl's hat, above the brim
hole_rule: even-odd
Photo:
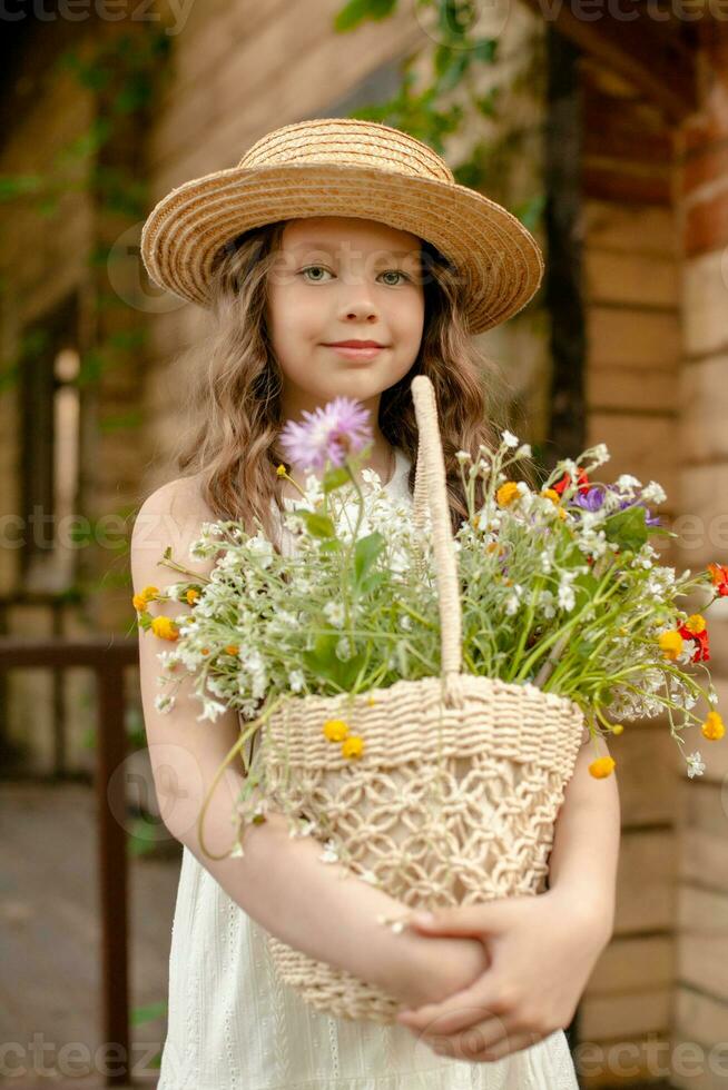
[[[388,125],[357,118],[317,118],[275,129],[249,148],[238,167],[316,162],[455,180],[444,159],[426,143]]]

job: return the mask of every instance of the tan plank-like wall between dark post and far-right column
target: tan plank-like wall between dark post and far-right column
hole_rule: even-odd
[[[587,440],[610,449],[603,479],[659,480],[667,521],[679,509],[672,137],[631,86],[587,57],[581,71]],[[670,549],[662,562],[675,563]],[[648,1042],[668,1039],[675,979],[677,746],[660,717],[629,724],[610,751],[622,807],[617,913],[580,1007],[579,1039],[598,1047],[584,1052],[584,1087],[650,1076]]]

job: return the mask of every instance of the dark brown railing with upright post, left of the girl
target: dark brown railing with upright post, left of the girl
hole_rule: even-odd
[[[124,672],[138,664],[138,641],[124,636],[88,638],[0,637],[0,673],[39,668],[94,671],[98,694],[95,790],[98,820],[98,882],[101,912],[104,1040],[118,1047],[119,1062],[106,1086],[129,1082],[129,984],[127,851],[124,776],[114,775],[127,755]]]

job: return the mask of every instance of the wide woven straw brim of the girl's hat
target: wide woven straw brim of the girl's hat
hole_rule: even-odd
[[[541,250],[521,221],[453,182],[342,164],[233,167],[173,189],[150,212],[141,258],[159,287],[203,307],[217,250],[282,219],[352,216],[432,242],[468,281],[470,333],[521,310],[543,276]]]

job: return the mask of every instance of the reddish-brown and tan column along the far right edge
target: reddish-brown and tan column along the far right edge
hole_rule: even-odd
[[[700,24],[700,107],[678,133],[682,246],[680,369],[680,566],[728,563],[728,24]],[[690,518],[690,522],[688,522]],[[676,526],[680,531],[680,526]],[[728,696],[728,605],[708,614],[719,710]],[[696,729],[702,776],[682,775],[677,981],[673,1033],[699,1057],[695,1074],[675,1067],[677,1087],[728,1082],[728,743]],[[711,1054],[712,1050],[712,1054]],[[673,1060],[677,1053],[673,1052]]]

